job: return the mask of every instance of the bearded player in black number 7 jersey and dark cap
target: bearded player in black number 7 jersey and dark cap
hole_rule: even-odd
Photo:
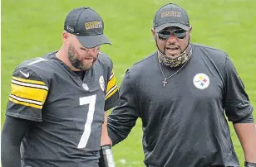
[[[98,166],[105,111],[118,99],[112,61],[100,52],[100,45],[111,44],[103,30],[96,11],[75,8],[66,17],[60,50],[16,67],[2,167]]]

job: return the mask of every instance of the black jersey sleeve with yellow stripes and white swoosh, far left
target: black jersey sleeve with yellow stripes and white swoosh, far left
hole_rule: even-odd
[[[18,67],[12,74],[6,115],[42,122],[42,107],[47,93],[46,81],[43,81],[32,69]]]

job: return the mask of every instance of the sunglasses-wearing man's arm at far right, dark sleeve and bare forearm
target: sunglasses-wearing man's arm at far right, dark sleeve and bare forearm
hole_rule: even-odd
[[[247,162],[254,162],[256,167],[256,128],[254,124],[254,108],[245,92],[242,79],[240,79],[234,64],[227,57],[224,64],[224,107],[230,122],[234,123],[241,146],[244,150],[244,158]]]

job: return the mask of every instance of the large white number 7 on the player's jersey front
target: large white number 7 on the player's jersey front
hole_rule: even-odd
[[[95,103],[96,103],[96,94],[88,97],[79,98],[80,105],[89,104],[89,111],[87,113],[87,119],[85,124],[85,130],[81,135],[81,139],[77,146],[78,149],[82,149],[86,147],[89,136],[91,135],[91,123],[93,121],[93,115],[95,111]]]

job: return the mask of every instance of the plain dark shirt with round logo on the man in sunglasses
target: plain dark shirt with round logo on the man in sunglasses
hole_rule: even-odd
[[[165,77],[178,69],[161,64]],[[192,55],[163,87],[156,52],[126,71],[119,104],[108,118],[113,144],[141,118],[145,165],[239,166],[228,122],[253,112],[244,84],[228,55],[192,45]]]

